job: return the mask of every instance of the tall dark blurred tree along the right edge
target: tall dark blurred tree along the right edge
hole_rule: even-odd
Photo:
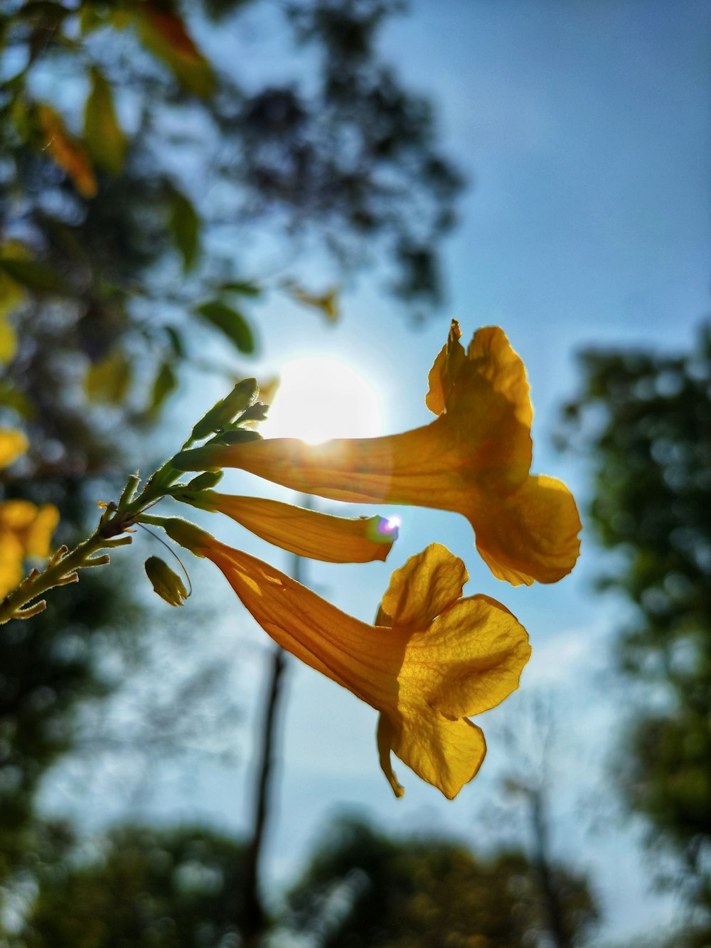
[[[685,355],[587,352],[563,444],[593,468],[590,516],[614,550],[603,589],[637,618],[622,671],[651,685],[619,758],[629,804],[689,869],[711,939],[711,327]],[[660,835],[661,834],[661,835]],[[704,940],[705,939],[705,940]],[[679,942],[681,943],[681,942]],[[685,943],[685,942],[684,942]]]

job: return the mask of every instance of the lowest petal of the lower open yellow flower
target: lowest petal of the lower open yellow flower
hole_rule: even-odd
[[[482,729],[470,720],[447,720],[428,704],[406,709],[400,716],[381,715],[378,723],[380,766],[396,796],[404,793],[386,753],[388,745],[423,780],[453,799],[478,773],[486,755]],[[398,789],[399,788],[399,791]]]

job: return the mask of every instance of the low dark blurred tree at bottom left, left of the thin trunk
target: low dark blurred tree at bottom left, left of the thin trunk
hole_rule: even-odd
[[[119,828],[94,859],[65,855],[35,872],[39,891],[15,942],[23,948],[238,944],[242,847],[217,832]]]

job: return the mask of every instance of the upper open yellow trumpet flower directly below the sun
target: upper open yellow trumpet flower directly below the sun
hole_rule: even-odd
[[[180,470],[240,467],[336,501],[407,503],[463,514],[477,549],[513,585],[556,582],[579,553],[580,520],[566,485],[530,474],[533,410],[520,357],[498,327],[465,351],[452,322],[429,373],[431,424],[382,438],[319,446],[288,438],[205,446],[173,458]]]

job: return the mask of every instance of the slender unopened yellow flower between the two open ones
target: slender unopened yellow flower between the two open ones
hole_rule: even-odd
[[[211,490],[193,497],[177,494],[176,500],[219,511],[283,550],[329,563],[386,559],[397,538],[397,528],[384,517],[333,517],[281,501]]]

